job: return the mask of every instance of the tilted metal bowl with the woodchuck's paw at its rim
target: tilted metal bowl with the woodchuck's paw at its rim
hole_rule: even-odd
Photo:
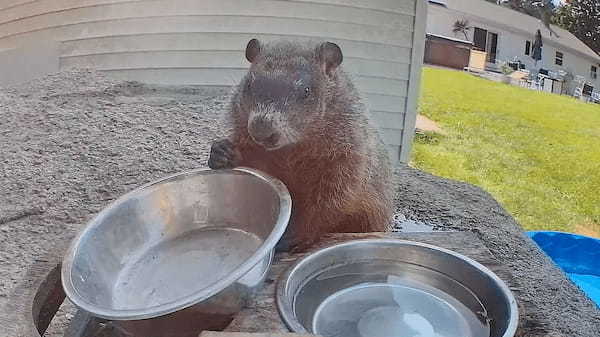
[[[286,187],[252,169],[172,175],[87,224],[64,258],[63,288],[128,333],[197,336],[226,324],[262,284],[290,213]]]

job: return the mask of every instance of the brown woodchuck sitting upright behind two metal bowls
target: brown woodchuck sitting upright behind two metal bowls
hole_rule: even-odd
[[[252,39],[246,58],[228,116],[233,134],[212,144],[208,165],[255,168],[287,186],[292,218],[277,250],[304,250],[325,233],[388,230],[389,158],[339,46]]]

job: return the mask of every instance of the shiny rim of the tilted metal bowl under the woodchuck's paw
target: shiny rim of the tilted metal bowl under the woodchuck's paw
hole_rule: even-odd
[[[177,178],[182,178],[185,176],[219,174],[226,172],[243,173],[246,175],[256,177],[262,180],[263,182],[267,183],[269,186],[271,186],[271,188],[276,192],[277,196],[279,197],[280,211],[277,221],[273,227],[273,230],[266,238],[266,240],[262,243],[262,245],[258,247],[258,249],[249,259],[247,259],[244,263],[238,266],[229,275],[206,288],[197,290],[183,298],[164,304],[152,306],[149,308],[126,310],[108,309],[90,303],[86,300],[84,296],[81,296],[81,294],[79,294],[79,292],[76,290],[75,286],[72,283],[71,276],[74,259],[77,256],[79,249],[81,248],[82,239],[85,238],[92,230],[96,229],[101,223],[102,219],[104,219],[108,215],[108,213],[110,213],[115,207],[154,185],[166,183],[168,181],[175,181],[177,180]],[[73,304],[75,304],[75,306],[99,318],[104,318],[108,320],[141,320],[171,314],[176,311],[190,307],[194,304],[197,304],[203,300],[206,300],[214,296],[215,294],[218,294],[219,292],[233,284],[235,281],[239,280],[244,275],[246,275],[254,266],[260,263],[260,261],[269,256],[272,256],[273,248],[275,247],[279,239],[283,236],[287,228],[291,217],[291,211],[291,195],[287,187],[283,184],[283,182],[281,182],[279,179],[273,176],[268,175],[265,172],[256,169],[248,167],[236,167],[233,169],[221,170],[213,170],[210,168],[198,168],[171,174],[154,180],[152,182],[143,184],[121,195],[120,197],[109,203],[107,206],[102,208],[100,212],[98,212],[90,221],[88,221],[87,224],[83,226],[78,231],[77,235],[72,239],[63,257],[61,265],[61,283],[66,296],[71,302],[73,302]]]

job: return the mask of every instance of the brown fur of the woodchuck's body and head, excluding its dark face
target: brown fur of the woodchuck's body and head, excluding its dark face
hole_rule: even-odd
[[[280,179],[293,200],[286,238],[297,248],[309,246],[325,233],[388,230],[392,212],[390,164],[349,78],[341,67],[327,73],[319,44],[280,41],[261,46],[260,54],[231,102],[231,158],[227,165],[217,165],[215,159],[219,158],[215,156],[209,165],[252,167]],[[305,107],[293,102],[286,105],[291,106],[286,116],[301,114],[301,118],[286,117],[276,125],[286,129],[277,132],[290,131],[291,143],[267,150],[249,135],[249,110],[254,106],[248,102],[255,101],[244,97],[244,85],[264,73],[292,74],[298,64],[309,65],[314,106],[322,107],[322,111],[305,112]]]

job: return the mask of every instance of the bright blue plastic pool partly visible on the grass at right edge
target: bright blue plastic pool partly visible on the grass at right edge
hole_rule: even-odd
[[[563,232],[527,232],[600,307],[600,240]]]

